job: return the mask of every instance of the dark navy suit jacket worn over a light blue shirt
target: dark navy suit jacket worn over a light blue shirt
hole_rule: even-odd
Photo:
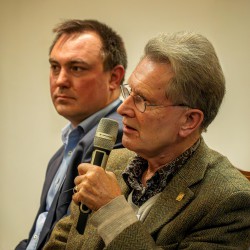
[[[120,102],[121,103],[121,102]],[[119,105],[120,105],[119,103]],[[107,115],[107,118],[114,119],[119,123],[119,131],[117,135],[117,141],[114,146],[114,148],[121,148],[123,147],[121,144],[121,138],[122,138],[122,117],[116,112],[118,106],[117,105],[114,109],[112,109]],[[55,223],[60,220],[63,216],[65,216],[68,212],[68,207],[72,199],[72,188],[74,187],[74,178],[78,175],[77,167],[81,162],[90,162],[91,161],[91,155],[93,152],[93,139],[95,136],[95,132],[98,126],[98,123],[100,121],[100,118],[96,119],[96,125],[81,139],[79,144],[76,146],[74,155],[72,156],[72,160],[69,163],[69,167],[66,174],[66,179],[63,183],[62,188],[57,192],[53,203],[51,205],[51,208],[49,210],[49,213],[47,215],[44,227],[42,229],[42,232],[39,237],[39,242],[37,249],[42,249],[45,242],[47,241],[52,228],[54,227]],[[35,226],[36,226],[36,219],[39,216],[40,213],[45,211],[46,207],[46,196],[49,191],[51,182],[62,162],[63,159],[63,153],[64,153],[64,147],[62,146],[55,155],[51,158],[47,172],[45,177],[45,182],[43,185],[41,200],[40,200],[40,207],[37,212],[35,221],[33,223],[33,226],[31,228],[29,239],[21,241],[18,246],[16,247],[16,250],[23,250],[26,249],[30,238],[32,237]],[[71,189],[70,191],[68,191]]]

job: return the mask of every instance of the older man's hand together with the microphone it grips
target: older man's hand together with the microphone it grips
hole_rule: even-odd
[[[115,145],[117,133],[118,123],[112,119],[102,118],[94,137],[91,164],[79,165],[80,175],[75,179],[77,192],[73,195],[73,200],[76,203],[81,202],[76,227],[80,234],[84,233],[91,210],[99,209],[121,193],[114,174],[104,170],[110,151]]]

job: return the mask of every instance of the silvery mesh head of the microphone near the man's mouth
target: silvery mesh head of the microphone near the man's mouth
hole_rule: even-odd
[[[94,147],[111,151],[116,142],[118,128],[119,124],[117,121],[109,118],[102,118],[96,130]]]

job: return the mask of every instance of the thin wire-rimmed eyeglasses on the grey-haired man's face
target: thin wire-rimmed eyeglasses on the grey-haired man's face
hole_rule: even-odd
[[[167,107],[188,107],[190,108],[188,105],[186,104],[170,104],[170,105],[157,105],[157,104],[148,104],[145,102],[145,100],[139,96],[139,95],[135,95],[132,94],[132,91],[129,90],[128,88],[128,84],[123,84],[120,86],[121,88],[121,92],[122,92],[122,97],[125,99],[127,99],[129,96],[132,96],[135,107],[141,112],[144,113],[146,111],[147,107],[158,107],[158,108],[167,108]]]

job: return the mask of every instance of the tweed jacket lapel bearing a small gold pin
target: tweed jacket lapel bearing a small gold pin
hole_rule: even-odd
[[[172,220],[195,198],[191,188],[204,178],[209,162],[208,150],[210,149],[201,140],[201,145],[192,158],[179,170],[160,194],[144,221],[151,234]]]

